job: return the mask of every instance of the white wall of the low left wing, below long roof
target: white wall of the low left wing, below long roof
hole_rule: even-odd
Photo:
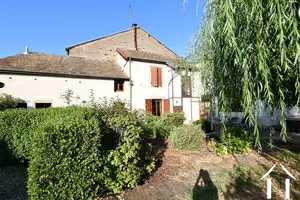
[[[74,96],[80,97],[71,104],[90,101],[91,89],[96,100],[103,97],[125,99],[129,89],[128,81],[125,81],[124,92],[114,92],[114,80],[104,79],[0,74],[0,80],[5,84],[4,88],[0,88],[0,93],[19,98],[28,107],[35,107],[35,103],[51,103],[52,107],[66,106],[60,96],[68,89],[74,91]]]

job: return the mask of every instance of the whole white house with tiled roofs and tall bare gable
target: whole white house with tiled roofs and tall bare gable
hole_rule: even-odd
[[[0,59],[0,93],[19,98],[20,107],[40,108],[65,106],[60,95],[67,89],[78,96],[74,104],[84,104],[92,89],[96,99],[119,97],[153,115],[184,111],[188,121],[205,116],[193,73],[180,70],[179,56],[136,24],[66,51],[68,56],[25,51]]]

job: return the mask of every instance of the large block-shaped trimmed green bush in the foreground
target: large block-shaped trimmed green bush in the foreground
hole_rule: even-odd
[[[31,199],[91,199],[104,192],[104,156],[96,117],[48,119],[34,134]]]

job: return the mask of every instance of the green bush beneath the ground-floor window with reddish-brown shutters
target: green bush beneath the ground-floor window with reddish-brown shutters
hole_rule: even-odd
[[[186,120],[184,112],[166,112],[162,116],[153,116],[152,113],[146,113],[146,124],[150,136],[156,138],[168,138],[170,132],[183,124]]]

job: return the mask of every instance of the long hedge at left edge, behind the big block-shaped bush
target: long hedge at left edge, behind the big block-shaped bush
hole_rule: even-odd
[[[23,161],[30,160],[34,132],[45,120],[81,115],[83,111],[90,112],[89,115],[93,115],[91,109],[76,106],[5,110],[0,113],[0,141],[4,141],[7,144],[16,158]]]

